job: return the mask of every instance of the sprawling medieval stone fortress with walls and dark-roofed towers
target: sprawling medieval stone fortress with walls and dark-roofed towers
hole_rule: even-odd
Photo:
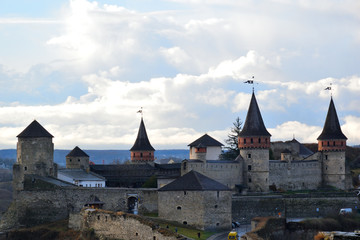
[[[53,136],[37,121],[17,137],[14,200],[2,220],[3,228],[68,218],[84,206],[126,212],[136,205],[139,214],[157,212],[160,218],[199,229],[229,229],[232,220],[271,215],[282,208],[288,214],[311,215],[312,208],[324,200],[319,197],[318,202],[307,198],[289,201],[269,197],[262,201],[265,210],[256,205],[259,203],[256,194],[269,193],[269,188],[306,190],[331,186],[346,190],[352,187],[345,164],[347,138],[341,131],[332,98],[315,153],[295,139],[272,143],[254,93],[238,136],[240,155],[233,160],[219,160],[223,144],[205,134],[189,144],[189,159],[181,164],[155,164],[155,149],[141,119],[137,139],[130,149],[130,165],[138,169],[156,168],[160,173],[158,188],[108,187],[112,181],[109,176],[115,176],[121,167],[108,166],[107,174],[102,174],[107,165],[89,165],[89,156],[78,147],[67,155],[66,169],[58,169],[53,160]],[[69,182],[60,177],[66,174],[77,180]],[[89,180],[86,186],[84,179]],[[94,185],[90,180],[95,181]],[[296,206],[292,206],[295,202]],[[323,206],[324,212],[320,214],[354,202],[356,196],[334,198],[332,205]],[[298,206],[303,206],[302,211],[297,210]]]

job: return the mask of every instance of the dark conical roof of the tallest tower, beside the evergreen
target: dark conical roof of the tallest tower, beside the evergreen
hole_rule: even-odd
[[[264,121],[261,117],[259,106],[256,102],[254,93],[251,96],[250,106],[246,116],[245,124],[243,129],[239,133],[239,136],[271,136],[271,134],[266,130],[266,127],[264,125]]]

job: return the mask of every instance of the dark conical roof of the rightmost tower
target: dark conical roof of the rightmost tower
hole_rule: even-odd
[[[347,139],[347,137],[341,131],[339,119],[337,117],[337,113],[332,97],[330,100],[329,110],[326,116],[323,131],[320,134],[320,136],[317,138],[317,140],[326,140],[326,139]]]

